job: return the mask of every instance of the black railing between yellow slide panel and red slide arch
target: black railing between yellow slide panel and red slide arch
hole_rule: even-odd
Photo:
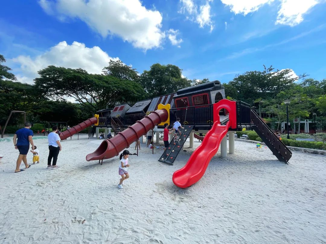
[[[170,124],[180,118],[182,125],[213,125],[213,104],[170,109]]]

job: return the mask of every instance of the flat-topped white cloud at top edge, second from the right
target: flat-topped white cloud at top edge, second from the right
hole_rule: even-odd
[[[221,0],[227,6],[230,6],[231,11],[235,14],[247,15],[248,13],[255,12],[266,3],[271,3],[274,0]]]

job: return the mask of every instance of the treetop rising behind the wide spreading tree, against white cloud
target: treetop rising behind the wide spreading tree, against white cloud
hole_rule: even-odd
[[[139,81],[136,69],[124,64],[121,60],[110,60],[109,66],[103,68],[104,75],[111,75],[121,80]]]

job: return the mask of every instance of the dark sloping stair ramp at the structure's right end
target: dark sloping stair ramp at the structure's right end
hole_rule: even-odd
[[[256,131],[261,140],[263,140],[266,146],[271,149],[278,160],[288,164],[288,161],[292,156],[289,148],[287,148],[287,146],[284,145],[280,139],[278,139],[274,132],[265,124],[265,122],[254,110],[250,111],[250,116],[253,122],[252,128]]]

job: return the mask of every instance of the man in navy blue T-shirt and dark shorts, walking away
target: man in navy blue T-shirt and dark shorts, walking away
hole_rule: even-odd
[[[32,145],[32,150],[34,150],[34,142],[33,142],[33,131],[30,129],[31,124],[25,123],[25,127],[16,131],[14,135],[14,146],[15,149],[19,150],[19,156],[16,162],[15,173],[22,172],[24,169],[19,169],[22,161],[25,164],[26,169],[31,167],[27,164],[27,153],[29,151],[29,143]]]

